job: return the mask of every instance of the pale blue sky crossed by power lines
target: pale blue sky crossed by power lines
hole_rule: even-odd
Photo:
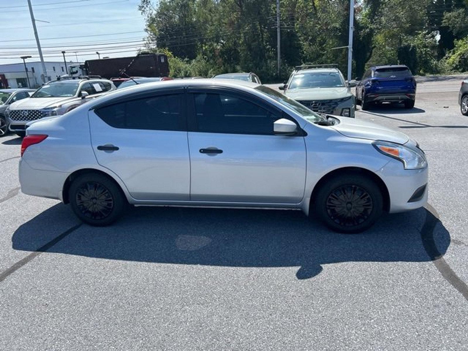
[[[44,61],[133,56],[146,37],[140,0],[31,0]],[[39,22],[47,21],[50,23]],[[39,61],[27,0],[0,0],[0,64]]]

